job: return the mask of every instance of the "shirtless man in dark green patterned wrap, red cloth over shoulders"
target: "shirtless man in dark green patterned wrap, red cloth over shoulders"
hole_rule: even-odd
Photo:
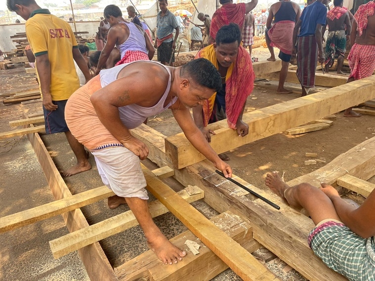
[[[334,58],[337,57],[337,74],[343,74],[342,65],[344,64],[346,41],[350,40],[352,29],[348,10],[342,7],[343,4],[344,0],[333,0],[334,8],[327,13],[327,25],[329,27],[325,52],[327,73],[333,65]],[[325,28],[322,28],[322,36],[325,30]],[[347,35],[345,35],[345,30]]]

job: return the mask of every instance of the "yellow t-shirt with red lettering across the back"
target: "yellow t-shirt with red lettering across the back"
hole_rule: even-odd
[[[80,87],[73,59],[73,48],[78,44],[70,25],[40,9],[31,14],[25,28],[34,55],[48,54],[52,100],[67,100]],[[36,68],[38,75],[38,64]]]

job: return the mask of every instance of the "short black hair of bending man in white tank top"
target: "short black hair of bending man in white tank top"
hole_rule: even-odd
[[[189,61],[180,70],[181,78],[191,79],[202,87],[221,90],[221,77],[214,65],[207,59],[199,58]],[[194,85],[193,85],[194,86]]]

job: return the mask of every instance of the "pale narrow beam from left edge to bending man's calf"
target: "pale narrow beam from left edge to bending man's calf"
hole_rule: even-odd
[[[61,215],[65,212],[81,208],[114,195],[115,194],[108,187],[102,186],[42,206],[5,216],[0,218],[0,233]]]

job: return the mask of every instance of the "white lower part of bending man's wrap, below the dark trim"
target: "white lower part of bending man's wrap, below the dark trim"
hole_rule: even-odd
[[[147,200],[146,179],[139,158],[125,147],[91,151],[103,183],[120,197]]]

